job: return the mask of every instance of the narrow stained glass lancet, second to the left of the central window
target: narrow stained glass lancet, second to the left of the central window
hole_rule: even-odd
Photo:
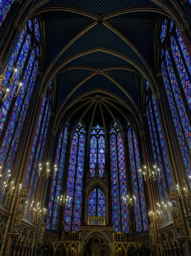
[[[67,122],[64,126],[64,129],[61,131],[58,141],[55,167],[56,175],[52,179],[52,185],[50,190],[49,206],[48,206],[48,216],[47,216],[47,229],[58,228],[58,217],[59,217],[59,202],[58,197],[61,196],[62,186],[63,186],[63,175],[66,159],[66,148],[68,142],[68,127],[69,123]]]

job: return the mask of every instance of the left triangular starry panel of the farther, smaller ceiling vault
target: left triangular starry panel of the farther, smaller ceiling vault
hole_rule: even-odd
[[[56,76],[57,79],[57,106],[62,103],[70,91],[78,85],[78,83],[91,74],[92,71],[77,69],[77,70],[66,70]]]

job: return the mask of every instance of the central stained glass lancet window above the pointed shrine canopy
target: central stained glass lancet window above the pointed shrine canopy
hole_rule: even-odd
[[[100,177],[103,177],[105,168],[105,138],[104,130],[100,125],[95,125],[91,131],[90,139],[90,171],[91,177],[95,175],[96,162],[99,165]]]

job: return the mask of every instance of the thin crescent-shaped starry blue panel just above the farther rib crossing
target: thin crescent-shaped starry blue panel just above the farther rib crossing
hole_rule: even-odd
[[[67,65],[86,65],[95,68],[103,68],[110,65],[132,66],[129,62],[105,52],[89,53],[71,61]]]

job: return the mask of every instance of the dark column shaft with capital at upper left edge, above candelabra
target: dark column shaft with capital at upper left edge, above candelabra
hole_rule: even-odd
[[[17,45],[19,36],[23,29],[24,29],[24,26],[22,24],[19,24],[17,21],[14,21],[11,32],[7,38],[7,41],[3,45],[3,48],[0,53],[0,74],[4,71],[6,66],[9,64],[11,55],[13,53],[15,46]]]

